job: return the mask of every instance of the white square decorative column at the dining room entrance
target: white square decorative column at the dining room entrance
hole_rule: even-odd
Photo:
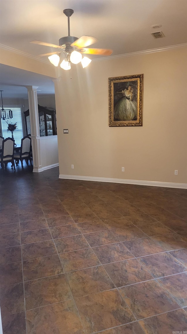
[[[42,168],[40,155],[40,127],[38,117],[38,98],[36,86],[25,86],[28,90],[29,115],[31,121],[31,139],[33,153],[33,172],[38,173]]]

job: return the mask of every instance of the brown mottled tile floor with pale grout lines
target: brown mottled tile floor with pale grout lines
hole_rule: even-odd
[[[0,170],[4,334],[187,331],[187,190]]]

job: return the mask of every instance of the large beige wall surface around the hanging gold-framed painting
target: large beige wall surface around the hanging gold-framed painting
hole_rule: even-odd
[[[186,56],[181,48],[77,65],[72,79],[63,71],[55,84],[60,174],[187,183]],[[139,73],[143,126],[108,127],[108,77]]]

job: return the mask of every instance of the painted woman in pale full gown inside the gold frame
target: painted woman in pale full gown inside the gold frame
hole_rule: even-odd
[[[128,89],[121,91],[122,98],[118,100],[114,107],[114,120],[132,121],[137,119],[137,103],[132,85]]]

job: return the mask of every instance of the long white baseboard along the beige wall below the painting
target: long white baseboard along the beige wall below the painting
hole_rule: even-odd
[[[107,177],[91,177],[91,176],[61,175],[61,174],[59,175],[59,179],[111,182],[111,183],[127,183],[127,184],[137,184],[137,185],[142,185],[142,186],[155,186],[155,187],[187,189],[187,183],[124,180],[124,179],[112,179],[112,178],[107,178]]]

